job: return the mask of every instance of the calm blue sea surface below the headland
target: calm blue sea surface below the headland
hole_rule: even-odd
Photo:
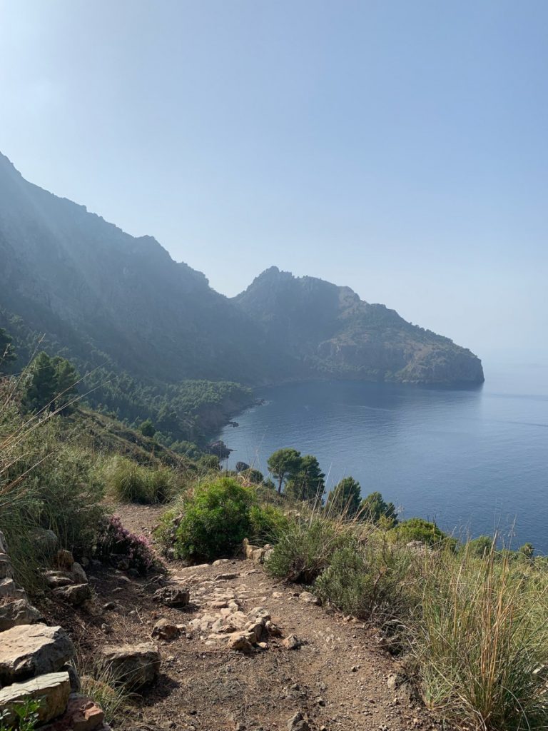
[[[548,366],[490,368],[475,390],[311,382],[257,390],[263,406],[220,438],[267,473],[295,447],[319,459],[327,487],[351,475],[404,518],[472,536],[498,529],[513,548],[548,553]],[[513,526],[513,527],[512,527]]]

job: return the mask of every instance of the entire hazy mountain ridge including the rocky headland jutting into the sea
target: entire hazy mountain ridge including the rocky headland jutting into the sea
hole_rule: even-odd
[[[24,325],[80,367],[108,360],[141,381],[483,379],[471,352],[348,287],[271,268],[219,295],[155,239],[28,183],[0,155],[0,326],[15,320],[19,340]]]

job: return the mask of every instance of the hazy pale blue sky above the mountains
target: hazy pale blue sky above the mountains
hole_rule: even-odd
[[[234,295],[546,350],[546,0],[0,0],[0,150]]]

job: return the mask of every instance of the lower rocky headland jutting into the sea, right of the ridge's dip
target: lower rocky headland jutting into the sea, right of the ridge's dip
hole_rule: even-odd
[[[345,378],[476,384],[482,363],[449,338],[406,322],[349,287],[273,267],[235,298],[270,342],[286,344],[310,371]]]

